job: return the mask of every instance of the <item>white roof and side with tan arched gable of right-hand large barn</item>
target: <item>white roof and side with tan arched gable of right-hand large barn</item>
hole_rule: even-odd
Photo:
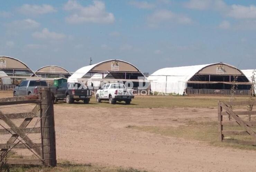
[[[212,63],[162,68],[150,75],[148,79],[150,80],[152,91],[182,95],[186,88],[186,83],[196,74],[244,75],[243,72],[235,66],[226,63]]]

